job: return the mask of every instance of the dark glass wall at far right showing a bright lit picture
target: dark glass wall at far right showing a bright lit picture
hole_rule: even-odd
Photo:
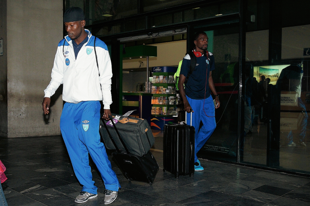
[[[310,2],[262,4],[248,1],[240,159],[310,174]]]

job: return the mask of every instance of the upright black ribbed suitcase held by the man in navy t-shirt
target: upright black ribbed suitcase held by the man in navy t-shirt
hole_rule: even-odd
[[[185,112],[185,121],[186,121]],[[192,124],[192,112],[191,112]],[[169,171],[175,175],[193,176],[195,149],[195,128],[181,122],[180,124],[165,124],[163,145],[163,171]]]

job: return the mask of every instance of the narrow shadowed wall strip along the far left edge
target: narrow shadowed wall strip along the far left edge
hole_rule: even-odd
[[[3,56],[0,56],[0,136],[7,137],[7,0],[0,0],[0,39],[3,39]]]

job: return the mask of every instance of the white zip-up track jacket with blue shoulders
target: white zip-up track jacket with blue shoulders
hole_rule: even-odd
[[[52,79],[44,90],[44,97],[50,98],[60,84],[64,84],[62,99],[65,102],[103,100],[104,109],[110,109],[112,65],[108,48],[103,41],[96,39],[98,69],[94,51],[95,37],[87,29],[85,31],[88,34],[88,40],[82,46],[77,59],[74,55],[73,40],[69,36],[65,36],[59,42],[51,74]]]

